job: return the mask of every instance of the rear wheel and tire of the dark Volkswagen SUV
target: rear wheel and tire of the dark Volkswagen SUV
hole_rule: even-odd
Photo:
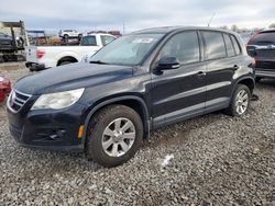
[[[243,103],[241,103],[240,96],[243,96]],[[246,98],[245,98],[246,96]],[[251,103],[251,91],[244,84],[238,84],[233,96],[231,99],[229,107],[226,110],[226,113],[230,116],[243,116],[248,113]],[[238,106],[239,104],[239,106]],[[242,106],[241,106],[242,105]],[[246,105],[246,106],[245,106]],[[240,106],[242,108],[240,108]]]

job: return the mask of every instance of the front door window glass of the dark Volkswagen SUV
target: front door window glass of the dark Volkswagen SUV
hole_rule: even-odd
[[[197,32],[183,32],[173,36],[162,48],[158,60],[164,57],[176,57],[182,64],[200,60],[200,49]]]

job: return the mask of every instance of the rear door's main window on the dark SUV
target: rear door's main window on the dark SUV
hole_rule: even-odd
[[[218,59],[227,57],[226,46],[220,32],[202,32],[206,41],[207,59]]]

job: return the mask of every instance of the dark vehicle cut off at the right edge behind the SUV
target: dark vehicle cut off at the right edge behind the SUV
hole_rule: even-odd
[[[258,32],[249,41],[246,48],[256,60],[256,81],[275,78],[275,30]]]

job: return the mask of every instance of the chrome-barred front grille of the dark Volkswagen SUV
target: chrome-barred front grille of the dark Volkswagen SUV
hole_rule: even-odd
[[[31,98],[30,94],[25,94],[16,90],[12,90],[8,100],[8,107],[12,112],[16,113],[25,105],[25,103],[28,102],[30,98]]]

